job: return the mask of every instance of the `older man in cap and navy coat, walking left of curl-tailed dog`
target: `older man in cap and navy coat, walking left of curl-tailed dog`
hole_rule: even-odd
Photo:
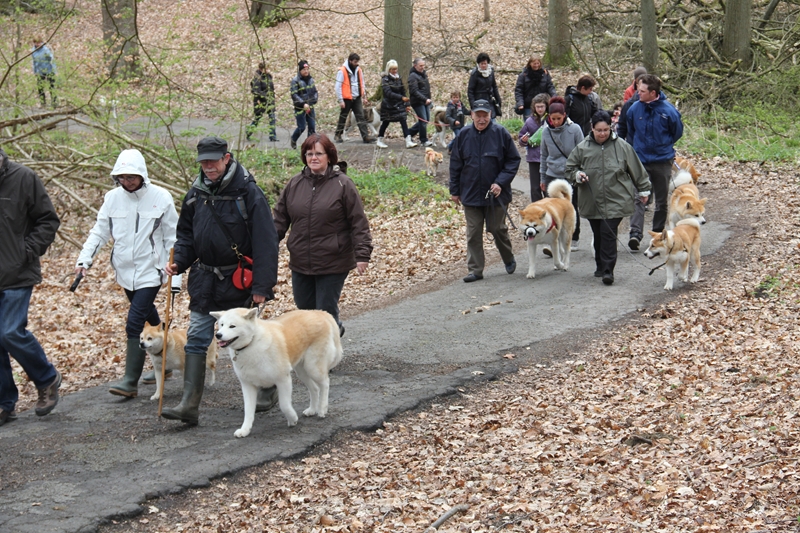
[[[483,279],[484,224],[494,237],[506,272],[513,274],[517,268],[504,218],[520,159],[511,134],[492,122],[492,105],[475,100],[472,124],[461,130],[450,157],[451,199],[464,206],[467,220],[466,283]]]

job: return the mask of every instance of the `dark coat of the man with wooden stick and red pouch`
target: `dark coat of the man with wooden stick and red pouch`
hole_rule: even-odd
[[[225,176],[219,178],[218,188],[210,189],[206,180],[201,171],[186,193],[178,219],[174,262],[179,272],[191,267],[189,309],[208,313],[246,307],[251,292],[273,299],[272,289],[278,282],[278,235],[264,192],[233,158]],[[239,252],[253,259],[249,290],[240,291],[233,285],[231,274],[238,258],[212,209]]]

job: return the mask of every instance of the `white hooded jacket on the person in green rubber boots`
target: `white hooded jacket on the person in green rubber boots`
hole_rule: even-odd
[[[117,179],[121,174],[142,176],[141,188],[126,191]],[[77,266],[90,268],[100,248],[114,239],[111,266],[117,274],[117,283],[130,291],[159,286],[167,281],[164,266],[175,244],[178,225],[172,195],[150,183],[147,165],[138,150],[123,150],[119,154],[111,178],[118,187],[106,193]],[[175,282],[173,278],[173,285]]]

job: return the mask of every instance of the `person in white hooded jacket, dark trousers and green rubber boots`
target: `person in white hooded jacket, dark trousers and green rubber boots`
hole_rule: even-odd
[[[97,222],[78,257],[75,273],[85,274],[100,248],[114,239],[111,266],[131,305],[125,325],[128,338],[125,377],[112,385],[109,392],[135,398],[146,357],[139,346],[139,334],[145,321],[152,326],[161,323],[153,302],[167,281],[164,265],[169,262],[169,250],[175,244],[178,213],[172,195],[150,183],[147,165],[138,150],[123,150],[119,154],[111,178],[119,186],[106,193]],[[173,284],[176,281],[180,282],[173,279]]]

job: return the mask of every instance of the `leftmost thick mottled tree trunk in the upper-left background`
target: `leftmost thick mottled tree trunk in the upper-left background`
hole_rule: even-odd
[[[106,66],[111,77],[137,76],[140,72],[136,35],[136,0],[102,0]]]

